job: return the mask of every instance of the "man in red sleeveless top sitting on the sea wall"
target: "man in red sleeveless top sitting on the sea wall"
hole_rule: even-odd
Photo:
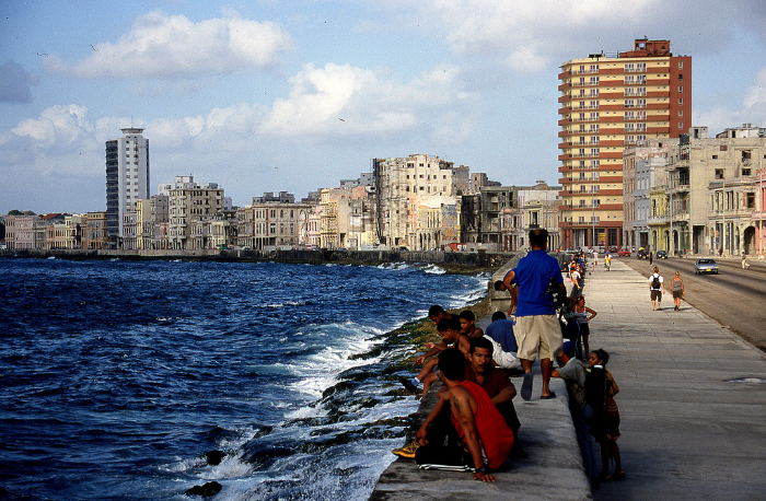
[[[487,392],[465,380],[465,357],[460,350],[449,348],[439,354],[439,373],[446,391],[418,430],[418,466],[467,465],[473,466],[474,480],[495,481],[487,470],[506,462],[513,446],[513,432]],[[448,406],[451,427],[439,419]]]

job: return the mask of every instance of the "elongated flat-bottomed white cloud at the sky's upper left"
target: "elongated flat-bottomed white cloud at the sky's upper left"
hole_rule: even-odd
[[[78,63],[51,55],[44,66],[51,73],[82,79],[175,79],[274,67],[292,47],[292,37],[278,23],[236,16],[194,23],[184,15],[153,11],[116,43],[94,45]]]

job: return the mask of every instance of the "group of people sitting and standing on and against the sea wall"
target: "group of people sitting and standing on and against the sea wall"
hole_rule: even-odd
[[[584,255],[566,265],[566,277],[572,281],[572,293],[567,296],[565,273],[545,250],[547,232],[531,231],[529,242],[527,255],[495,283],[496,290],[510,293],[510,319],[495,312],[485,333],[476,326],[471,310],[460,315],[438,305],[429,310],[442,341],[426,343],[426,353],[415,361],[422,366],[420,372],[399,381],[411,393],[422,386],[423,396],[434,383],[441,386],[416,438],[394,454],[414,458],[421,469],[472,471],[475,480],[495,481],[494,474],[502,471],[507,462],[529,457],[519,435],[522,423],[513,406],[517,387],[510,376],[522,376],[519,393],[531,400],[532,364],[539,359],[541,400],[556,398],[550,377],[566,383],[591,485],[623,479],[619,412],[614,400],[619,389],[604,369],[608,353],[589,351],[588,322],[596,312],[584,305]],[[601,450],[600,471],[593,439]],[[612,462],[615,469],[610,473]]]

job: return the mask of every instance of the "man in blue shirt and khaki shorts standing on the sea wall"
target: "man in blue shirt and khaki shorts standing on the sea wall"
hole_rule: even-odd
[[[524,369],[524,382],[521,397],[532,398],[532,362],[539,356],[539,369],[543,373],[542,399],[556,398],[550,391],[550,374],[556,353],[561,349],[561,328],[556,318],[554,292],[559,298],[567,295],[564,278],[556,258],[548,256],[546,230],[530,231],[531,250],[519,260],[515,268],[506,275],[502,281],[495,283],[496,290],[511,290],[518,286],[515,338],[519,345],[519,359]]]

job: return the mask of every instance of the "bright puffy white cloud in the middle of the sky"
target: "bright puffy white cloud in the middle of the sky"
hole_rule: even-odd
[[[432,133],[452,121],[442,116],[471,115],[473,94],[460,89],[454,67],[437,67],[408,82],[386,70],[349,65],[306,65],[290,79],[290,95],[277,100],[259,128],[271,136]],[[455,135],[463,136],[462,133]],[[454,139],[454,137],[453,137]]]

